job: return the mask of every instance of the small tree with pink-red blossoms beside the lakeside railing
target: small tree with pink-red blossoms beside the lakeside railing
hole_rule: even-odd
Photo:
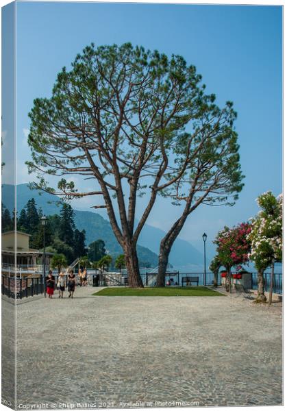
[[[217,245],[217,258],[227,271],[225,288],[231,292],[231,269],[238,264],[244,264],[249,260],[249,252],[251,250],[248,234],[251,232],[249,223],[241,223],[236,227],[224,227],[220,231],[214,244]]]

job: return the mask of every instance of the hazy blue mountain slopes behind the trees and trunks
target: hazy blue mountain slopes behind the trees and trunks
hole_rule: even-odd
[[[18,184],[17,192],[17,210],[20,211],[29,199],[34,197],[38,208],[47,214],[58,214],[60,207],[58,198],[46,192],[38,192],[30,190],[27,184]],[[8,210],[14,208],[14,186],[3,184],[2,186],[2,201]],[[75,224],[77,229],[86,230],[86,242],[95,241],[99,238],[105,241],[106,249],[113,255],[121,253],[121,246],[118,244],[110,222],[105,220],[100,214],[92,211],[75,210]],[[160,240],[164,236],[164,231],[145,225],[140,234],[138,245],[138,257],[140,261],[149,262],[152,266],[158,265],[158,252]],[[201,266],[203,256],[195,247],[184,240],[177,238],[171,250],[169,261],[173,266]]]

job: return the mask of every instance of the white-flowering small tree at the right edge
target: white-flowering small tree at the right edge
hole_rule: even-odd
[[[251,219],[251,241],[249,258],[258,271],[258,297],[256,301],[265,302],[264,271],[271,267],[271,286],[269,304],[272,303],[274,263],[282,262],[282,206],[283,197],[275,197],[271,191],[264,192],[257,199],[261,208],[257,216]]]

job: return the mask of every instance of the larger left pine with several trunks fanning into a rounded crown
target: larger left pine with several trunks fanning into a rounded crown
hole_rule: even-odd
[[[77,55],[71,71],[64,68],[58,74],[52,97],[34,100],[29,113],[32,161],[27,164],[29,172],[38,173],[36,187],[68,199],[103,197],[95,208],[107,208],[125,254],[129,286],[143,286],[136,244],[158,192],[182,177],[190,161],[196,163],[188,143],[180,162],[173,147],[178,140],[183,145],[191,121],[197,125],[196,135],[209,126],[205,111],[213,97],[205,97],[200,82],[195,66],[188,66],[182,56],[168,58],[130,43],[92,44]],[[64,178],[55,190],[45,174],[93,178],[99,190],[78,191]],[[135,225],[137,197],[145,192],[146,208]]]

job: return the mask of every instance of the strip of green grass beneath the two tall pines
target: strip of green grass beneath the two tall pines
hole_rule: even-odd
[[[108,287],[95,292],[93,295],[106,296],[138,296],[138,297],[219,297],[223,296],[220,292],[211,290],[207,287]]]

